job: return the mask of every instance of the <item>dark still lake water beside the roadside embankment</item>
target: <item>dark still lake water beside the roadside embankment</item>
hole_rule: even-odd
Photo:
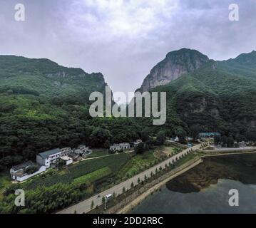
[[[256,213],[256,155],[242,156],[206,159],[203,165],[169,182],[168,188],[150,195],[131,213]],[[228,204],[231,189],[239,191],[239,207]]]

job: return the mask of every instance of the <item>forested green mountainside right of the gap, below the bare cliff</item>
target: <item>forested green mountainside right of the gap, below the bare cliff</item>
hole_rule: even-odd
[[[168,117],[178,116],[183,134],[219,131],[239,140],[256,140],[255,53],[209,61],[151,91],[167,92]]]

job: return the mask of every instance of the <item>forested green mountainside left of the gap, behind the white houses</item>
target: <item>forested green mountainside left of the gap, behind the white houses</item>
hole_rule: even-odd
[[[105,86],[101,73],[0,56],[0,170],[54,147],[103,147],[137,138],[128,130],[131,120],[90,117],[88,96]]]

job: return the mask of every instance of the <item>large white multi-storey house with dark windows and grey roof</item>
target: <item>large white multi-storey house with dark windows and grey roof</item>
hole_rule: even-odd
[[[40,154],[36,155],[36,162],[39,165],[50,167],[51,163],[55,163],[57,158],[62,157],[62,154],[63,152],[61,152],[59,148],[41,152]]]

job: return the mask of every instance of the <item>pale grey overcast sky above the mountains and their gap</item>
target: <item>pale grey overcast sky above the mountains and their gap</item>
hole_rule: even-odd
[[[256,49],[255,0],[0,0],[0,54],[49,58],[101,72],[134,91],[166,53],[193,48],[222,60]],[[26,21],[14,20],[14,6]],[[240,7],[230,21],[229,5]]]

